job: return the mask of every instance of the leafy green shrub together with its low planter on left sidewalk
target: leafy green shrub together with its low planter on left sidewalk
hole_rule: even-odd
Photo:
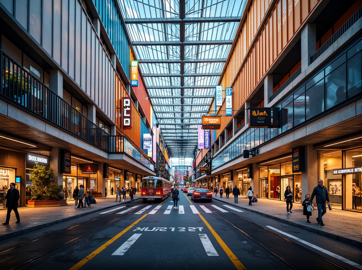
[[[46,170],[44,165],[35,162],[30,171],[29,179],[32,184],[29,186],[31,200],[28,200],[28,207],[46,207],[67,205],[64,199],[63,185],[55,184],[54,170]]]

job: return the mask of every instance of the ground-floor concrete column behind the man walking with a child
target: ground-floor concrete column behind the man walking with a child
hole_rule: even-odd
[[[318,177],[318,150],[314,150],[312,144],[304,147],[304,162],[305,170],[302,172],[302,199],[306,194],[312,195],[313,188],[318,185],[318,179],[324,180],[324,176],[322,178]],[[321,163],[321,169],[323,170],[323,159]],[[322,175],[323,173],[321,172]]]

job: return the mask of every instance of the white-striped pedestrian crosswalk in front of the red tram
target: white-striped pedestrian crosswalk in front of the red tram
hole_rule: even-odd
[[[106,214],[106,213],[110,213],[110,212],[113,212],[113,211],[117,211],[119,209],[122,209],[121,212],[118,212],[116,214],[124,214],[124,213],[127,213],[129,212],[130,210],[134,210],[138,207],[142,206],[142,204],[139,204],[139,205],[135,205],[135,206],[132,206],[130,208],[127,208],[127,209],[122,209],[126,206],[120,206],[120,207],[117,207],[115,209],[111,209],[111,210],[108,210],[108,211],[105,211],[105,212],[101,212],[100,214]],[[178,214],[185,214],[185,213],[190,213],[192,212],[193,214],[200,214],[200,213],[213,213],[213,212],[222,212],[222,213],[229,213],[229,211],[217,206],[217,205],[214,205],[214,204],[211,204],[211,205],[208,205],[208,206],[211,206],[210,208],[207,208],[205,205],[189,205],[188,206],[184,206],[184,205],[178,205],[177,206],[177,209],[174,209],[174,206],[173,204],[172,205],[167,205],[166,206],[166,209],[165,209],[165,206],[164,205],[157,205],[157,206],[153,206],[153,205],[147,205],[145,207],[143,207],[142,209],[140,209],[138,212],[134,213],[135,215],[140,215],[140,214],[143,214],[143,213],[146,213],[146,214],[149,214],[149,215],[153,215],[153,214],[156,214],[157,212],[163,212],[163,214],[165,215],[168,215],[168,214],[173,214],[173,213],[178,213]],[[241,211],[240,209],[238,208],[235,208],[235,207],[232,207],[230,205],[226,205],[226,204],[223,204],[222,206],[228,208],[228,209],[231,209],[235,212],[244,212],[244,211]],[[150,209],[150,208],[153,208],[153,209]],[[165,209],[165,210],[163,210]],[[149,210],[150,212],[147,212],[147,210]],[[189,212],[190,211],[190,212]]]

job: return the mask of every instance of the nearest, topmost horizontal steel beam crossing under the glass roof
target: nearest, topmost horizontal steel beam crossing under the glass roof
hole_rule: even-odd
[[[201,18],[124,18],[129,23],[206,23],[206,22],[240,22],[241,16],[236,17],[201,17]]]

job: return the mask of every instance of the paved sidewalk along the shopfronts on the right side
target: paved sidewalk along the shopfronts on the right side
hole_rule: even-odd
[[[232,194],[230,194],[229,198],[226,198],[225,194],[220,198],[219,193],[216,197],[213,195],[212,199],[357,247],[362,247],[361,213],[333,209],[333,204],[332,211],[330,211],[327,206],[327,213],[323,216],[323,223],[325,226],[320,226],[316,221],[316,218],[318,217],[316,206],[315,210],[312,212],[312,216],[309,218],[312,223],[307,223],[307,216],[303,215],[303,206],[299,203],[293,203],[293,213],[287,214],[285,201],[257,198],[258,202],[249,206],[248,197],[239,196],[238,203],[235,204],[234,196]]]

